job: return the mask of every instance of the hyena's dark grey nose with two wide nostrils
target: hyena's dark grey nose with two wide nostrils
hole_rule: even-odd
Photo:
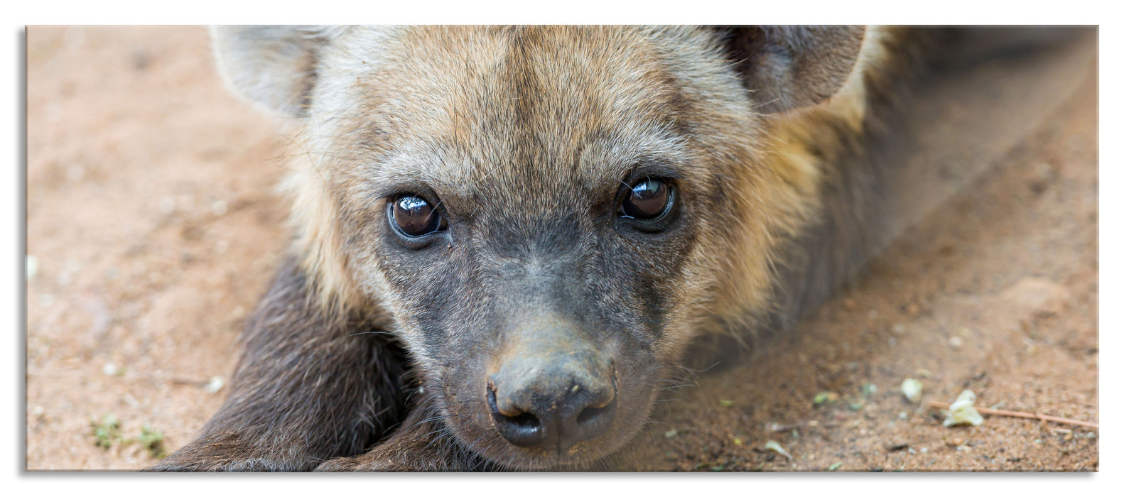
[[[513,445],[563,451],[600,436],[617,406],[616,371],[587,354],[543,367],[535,358],[506,364],[488,382],[496,430]],[[537,363],[536,363],[537,362]]]

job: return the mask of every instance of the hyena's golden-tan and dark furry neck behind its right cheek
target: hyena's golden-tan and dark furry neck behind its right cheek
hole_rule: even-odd
[[[798,322],[861,270],[888,242],[887,169],[895,133],[905,123],[896,112],[908,100],[926,64],[915,55],[932,34],[868,28],[859,60],[831,99],[781,115],[765,116],[760,168],[786,180],[799,199],[796,214],[778,223],[769,248],[771,293],[764,305],[732,295],[737,281],[720,283],[714,311],[696,328],[685,354],[692,368],[735,362],[772,332]],[[729,295],[727,295],[727,292]]]

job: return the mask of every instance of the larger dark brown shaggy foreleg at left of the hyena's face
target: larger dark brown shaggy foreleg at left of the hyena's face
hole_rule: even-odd
[[[386,325],[318,310],[292,260],[243,338],[226,403],[194,442],[148,470],[307,471],[362,453],[404,416],[406,360]]]

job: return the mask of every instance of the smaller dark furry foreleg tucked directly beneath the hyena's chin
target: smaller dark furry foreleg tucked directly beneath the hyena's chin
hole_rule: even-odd
[[[429,409],[414,409],[402,426],[370,452],[336,458],[316,471],[495,471],[464,449]]]

